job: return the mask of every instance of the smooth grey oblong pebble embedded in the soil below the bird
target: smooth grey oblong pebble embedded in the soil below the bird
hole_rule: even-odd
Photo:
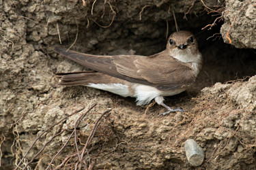
[[[205,158],[203,148],[201,148],[194,139],[186,140],[185,152],[188,163],[190,163],[191,166],[197,167],[203,163]]]

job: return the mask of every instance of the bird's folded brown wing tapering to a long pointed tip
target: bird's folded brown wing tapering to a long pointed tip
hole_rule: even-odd
[[[137,55],[96,56],[56,47],[55,52],[72,61],[106,73],[115,78],[172,90],[195,82],[195,73],[188,65],[176,61],[164,52],[151,57]]]

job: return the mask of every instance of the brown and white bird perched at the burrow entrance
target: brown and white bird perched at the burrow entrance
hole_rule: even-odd
[[[61,86],[88,86],[135,97],[138,105],[153,99],[167,112],[185,112],[165,105],[164,97],[177,95],[191,86],[203,65],[195,35],[190,31],[172,33],[166,49],[151,56],[84,54],[56,46],[54,51],[91,71],[56,73]]]

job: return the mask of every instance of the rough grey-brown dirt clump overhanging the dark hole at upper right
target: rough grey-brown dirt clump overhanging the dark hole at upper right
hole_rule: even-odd
[[[225,43],[236,48],[256,48],[256,2],[229,0],[225,4],[225,23],[221,27]]]

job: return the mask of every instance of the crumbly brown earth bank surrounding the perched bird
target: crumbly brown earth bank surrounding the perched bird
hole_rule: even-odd
[[[255,1],[233,0],[0,0],[1,168],[14,169],[33,141],[53,126],[20,164],[25,167],[33,158],[31,169],[46,169],[80,116],[96,104],[76,128],[77,148],[83,150],[96,120],[111,108],[87,145],[88,167],[255,169],[255,9]],[[195,33],[204,59],[195,86],[166,98],[167,105],[187,112],[158,118],[165,112],[159,105],[141,107],[132,98],[57,85],[54,73],[86,68],[55,54],[54,46],[90,54],[154,54],[165,49],[166,36],[175,31],[173,12],[181,30]],[[224,22],[221,17],[208,25],[219,16]],[[186,160],[186,139],[203,148],[200,167],[190,167]],[[74,169],[75,143],[72,135],[53,169],[61,163]]]

